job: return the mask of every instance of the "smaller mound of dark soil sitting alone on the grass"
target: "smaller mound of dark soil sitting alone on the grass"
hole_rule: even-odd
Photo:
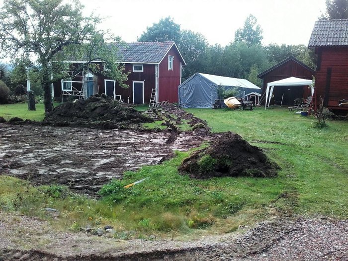
[[[179,171],[195,178],[220,176],[272,177],[280,169],[262,150],[235,133],[225,133],[209,147],[184,159]]]

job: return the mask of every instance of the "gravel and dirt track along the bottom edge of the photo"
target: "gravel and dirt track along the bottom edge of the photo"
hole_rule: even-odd
[[[348,221],[273,220],[197,241],[123,241],[54,231],[36,218],[0,212],[0,260],[348,260]]]

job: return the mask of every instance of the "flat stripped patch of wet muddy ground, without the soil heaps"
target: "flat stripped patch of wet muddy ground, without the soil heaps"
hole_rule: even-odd
[[[0,124],[0,174],[34,184],[65,184],[95,193],[125,171],[159,164],[214,136],[168,131],[100,130]]]

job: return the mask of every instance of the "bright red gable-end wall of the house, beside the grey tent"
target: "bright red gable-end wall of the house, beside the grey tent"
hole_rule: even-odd
[[[168,70],[168,56],[174,56],[173,70]],[[159,65],[159,101],[177,102],[177,87],[180,85],[181,57],[173,46]]]

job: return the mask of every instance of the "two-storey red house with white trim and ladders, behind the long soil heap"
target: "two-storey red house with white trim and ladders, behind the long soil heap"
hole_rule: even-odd
[[[120,87],[102,74],[79,72],[74,79],[62,80],[62,83],[54,85],[55,97],[86,98],[95,93],[105,93],[125,102],[141,104],[149,103],[152,90],[156,89],[155,101],[178,101],[177,87],[181,84],[182,66],[186,64],[173,41],[117,44],[117,54],[110,55],[117,55],[120,63],[124,64],[125,72],[130,72],[125,82],[129,88]]]

